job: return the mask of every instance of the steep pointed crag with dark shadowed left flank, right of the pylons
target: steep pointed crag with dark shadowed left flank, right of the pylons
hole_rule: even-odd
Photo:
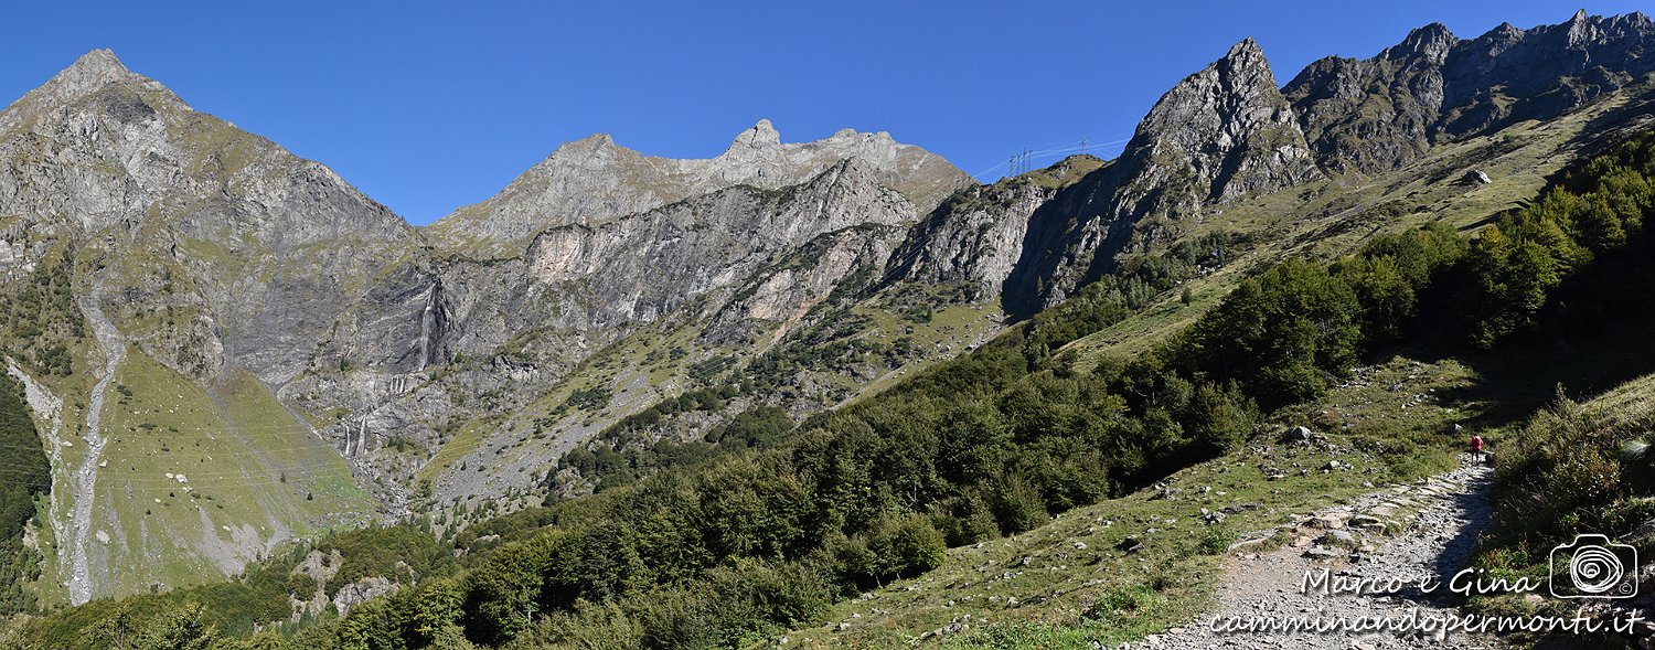
[[[1114,164],[1034,212],[1003,301],[1021,314],[1063,301],[1144,218],[1200,218],[1317,177],[1264,53],[1245,40],[1167,91]]]

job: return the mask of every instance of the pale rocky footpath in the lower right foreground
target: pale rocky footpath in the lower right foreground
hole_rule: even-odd
[[[1491,637],[1440,633],[1425,625],[1456,614],[1450,579],[1471,559],[1476,534],[1490,521],[1491,471],[1461,466],[1430,480],[1364,495],[1350,504],[1319,511],[1296,526],[1278,529],[1286,547],[1243,554],[1231,561],[1218,585],[1211,617],[1134,647],[1150,648],[1491,648]],[[1417,513],[1417,514],[1413,514]],[[1402,533],[1384,536],[1379,524]],[[1316,579],[1398,579],[1334,594]],[[1437,579],[1428,590],[1420,577]],[[1417,620],[1407,630],[1281,628],[1284,622]]]

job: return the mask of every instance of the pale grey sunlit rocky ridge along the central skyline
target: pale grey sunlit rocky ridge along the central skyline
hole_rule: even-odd
[[[450,243],[498,245],[548,227],[604,222],[735,185],[798,185],[847,159],[862,160],[874,179],[922,208],[970,184],[948,160],[885,132],[842,129],[823,141],[783,144],[766,119],[738,134],[722,155],[700,160],[642,155],[606,134],[569,142],[500,195],[463,207],[430,230]]]

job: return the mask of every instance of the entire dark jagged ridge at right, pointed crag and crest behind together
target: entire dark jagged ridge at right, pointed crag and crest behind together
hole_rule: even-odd
[[[1460,40],[1413,30],[1369,60],[1326,58],[1278,89],[1251,40],[1183,79],[1120,159],[1036,210],[1006,304],[1031,313],[1107,273],[1147,218],[1213,207],[1327,174],[1377,174],[1430,147],[1552,119],[1655,73],[1643,13],[1589,17]]]

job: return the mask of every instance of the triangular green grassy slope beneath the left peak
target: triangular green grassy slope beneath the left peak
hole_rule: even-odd
[[[245,374],[204,389],[132,349],[114,385],[89,551],[109,567],[98,594],[233,576],[276,544],[376,511],[339,455]],[[43,600],[61,597],[58,577],[46,572]]]

